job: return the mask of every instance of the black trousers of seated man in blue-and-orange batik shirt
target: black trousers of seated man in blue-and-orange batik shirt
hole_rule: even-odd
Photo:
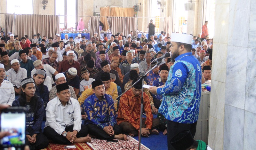
[[[114,135],[109,136],[108,133],[106,133],[103,129],[98,127],[96,124],[89,123],[86,126],[89,129],[89,133],[96,136],[99,139],[114,139],[115,137]],[[114,133],[115,135],[121,134],[123,132],[122,128],[117,124],[114,125],[113,130],[115,132]]]

